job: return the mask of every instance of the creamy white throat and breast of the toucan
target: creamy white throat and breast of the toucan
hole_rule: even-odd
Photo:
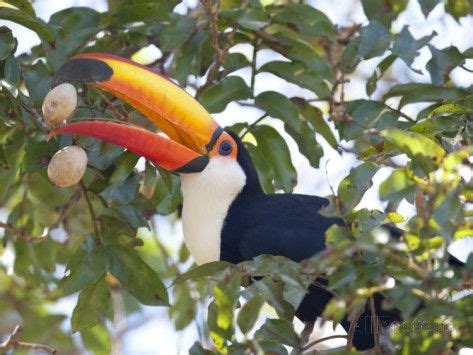
[[[182,174],[184,240],[197,264],[220,259],[223,222],[246,176],[232,158],[212,157],[200,173]]]

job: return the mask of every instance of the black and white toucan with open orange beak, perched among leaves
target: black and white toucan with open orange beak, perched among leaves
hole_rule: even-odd
[[[78,121],[52,135],[95,137],[133,151],[178,174],[183,195],[182,223],[187,248],[197,264],[216,260],[239,263],[258,255],[281,255],[296,262],[326,249],[325,232],[337,218],[319,213],[325,198],[301,194],[265,194],[248,150],[238,135],[222,129],[210,114],[170,79],[135,62],[108,54],[81,54],[55,74],[63,82],[94,83],[123,99],[154,122],[167,137],[128,124]],[[395,228],[391,233],[399,232]],[[322,284],[326,281],[318,280]],[[319,283],[320,285],[320,283]],[[333,297],[327,287],[312,285],[296,311],[303,322],[320,316]],[[396,309],[374,297],[384,325],[401,320]],[[374,346],[369,307],[356,327],[358,350]],[[341,322],[348,331],[350,321]]]

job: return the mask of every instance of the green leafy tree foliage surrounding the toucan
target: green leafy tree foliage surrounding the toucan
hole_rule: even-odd
[[[453,240],[473,230],[468,209],[473,89],[458,87],[450,78],[455,69],[469,70],[465,63],[473,58],[473,48],[436,48],[435,33],[414,38],[409,26],[393,33],[391,24],[407,5],[403,0],[363,0],[368,20],[351,27],[335,26],[309,5],[284,1],[207,0],[179,14],[173,12],[176,0],[109,0],[108,12],[69,8],[47,23],[26,0],[6,3],[11,6],[0,3],[0,19],[35,31],[41,44],[16,56],[21,39],[8,23],[0,27],[0,204],[6,214],[0,224],[2,333],[21,323],[22,340],[72,352],[79,345],[64,330],[64,316],[50,306],[78,293],[71,328],[94,353],[108,353],[120,337],[110,331],[123,317],[118,299],[129,315],[142,312],[142,304],[170,304],[169,317],[179,330],[198,322],[196,315],[202,317],[207,307],[203,329],[212,339],[205,344],[211,351],[282,354],[287,353],[283,345],[300,347],[294,311],[323,274],[337,295],[326,309],[329,319],[356,313],[374,292],[383,291],[387,306],[399,308],[407,322],[429,325],[421,331],[412,331],[409,323],[397,329],[394,341],[403,353],[473,346],[473,296],[451,302],[455,292],[471,287],[473,259],[457,269],[448,264],[446,252]],[[469,16],[473,7],[471,1],[440,3],[419,0],[426,16],[435,6],[445,6],[445,16],[456,20]],[[70,137],[48,139],[38,113],[54,72],[78,53],[130,57],[150,44],[162,51],[150,66],[187,86],[211,113],[231,102],[261,110],[257,121],[232,128],[246,138],[265,191],[291,192],[297,183],[288,145],[274,128],[277,121],[315,168],[324,155],[321,140],[363,162],[329,196],[323,213],[342,217],[346,226],[329,229],[326,252],[301,264],[260,256],[240,265],[215,262],[189,270],[185,246],[174,258],[152,220],[156,214],[179,217],[179,179],[158,174],[149,164],[138,170],[136,155],[94,139],[75,138],[89,158],[80,185],[60,189],[48,181],[49,159],[71,144]],[[252,46],[253,56],[229,53],[238,44]],[[423,48],[431,59],[425,68],[414,69]],[[278,53],[279,59],[258,67],[262,50]],[[379,63],[365,80],[367,95],[349,100],[344,85],[370,58]],[[413,71],[426,70],[431,81],[390,78],[390,68],[399,61]],[[240,70],[251,72],[249,81],[238,75]],[[257,93],[261,73],[312,96]],[[380,81],[389,89],[377,88]],[[76,118],[113,117],[150,128],[138,112],[92,86],[79,87],[79,94]],[[407,105],[417,114],[407,114]],[[382,167],[393,168],[380,188],[386,210],[356,209]],[[405,237],[386,239],[379,227],[408,217],[398,208],[403,200],[415,203],[417,213],[406,221]],[[261,324],[264,304],[275,309],[277,319]],[[424,307],[415,313],[420,304]],[[190,352],[208,350],[196,343]]]

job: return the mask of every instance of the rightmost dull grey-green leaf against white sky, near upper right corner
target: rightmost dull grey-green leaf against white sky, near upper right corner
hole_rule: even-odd
[[[459,65],[465,64],[465,58],[457,47],[447,47],[438,50],[434,46],[430,46],[432,58],[427,63],[427,70],[432,77],[434,85],[442,85],[448,81],[450,73]]]

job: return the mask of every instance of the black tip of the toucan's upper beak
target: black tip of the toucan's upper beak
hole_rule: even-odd
[[[109,80],[113,69],[97,59],[76,58],[68,60],[54,75],[51,87],[69,81],[97,82]]]

